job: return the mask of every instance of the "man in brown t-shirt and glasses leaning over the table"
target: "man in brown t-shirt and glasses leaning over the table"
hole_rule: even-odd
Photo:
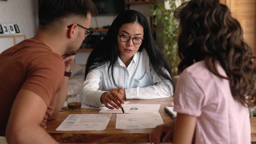
[[[0,136],[8,143],[57,143],[44,128],[64,104],[70,65],[95,12],[91,0],[41,0],[34,37],[0,54]]]

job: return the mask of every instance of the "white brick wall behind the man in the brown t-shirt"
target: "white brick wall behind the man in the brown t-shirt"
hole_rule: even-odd
[[[0,0],[0,23],[15,23],[27,38],[35,34],[35,0]],[[17,38],[17,42],[23,38]],[[12,38],[0,39],[0,53],[13,46]]]

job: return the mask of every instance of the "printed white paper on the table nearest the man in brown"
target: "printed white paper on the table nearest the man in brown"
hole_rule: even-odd
[[[105,130],[112,114],[71,114],[56,131]]]

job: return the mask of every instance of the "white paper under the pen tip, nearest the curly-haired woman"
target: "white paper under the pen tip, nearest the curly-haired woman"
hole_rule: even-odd
[[[159,112],[116,115],[116,129],[148,129],[163,123]]]

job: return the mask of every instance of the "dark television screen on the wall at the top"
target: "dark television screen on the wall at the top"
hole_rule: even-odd
[[[92,0],[99,15],[119,14],[125,10],[125,0]]]

